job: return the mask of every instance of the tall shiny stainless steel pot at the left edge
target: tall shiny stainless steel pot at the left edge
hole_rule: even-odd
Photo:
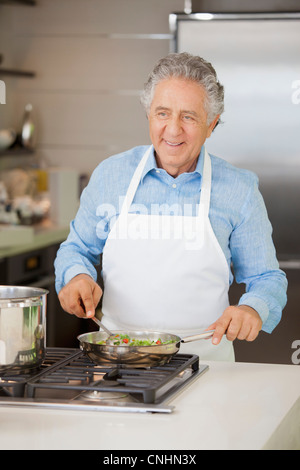
[[[47,294],[37,287],[0,286],[0,373],[43,362]]]

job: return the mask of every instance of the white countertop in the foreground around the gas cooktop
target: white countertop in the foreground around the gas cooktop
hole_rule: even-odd
[[[297,365],[206,362],[163,413],[0,406],[1,449],[300,449]]]

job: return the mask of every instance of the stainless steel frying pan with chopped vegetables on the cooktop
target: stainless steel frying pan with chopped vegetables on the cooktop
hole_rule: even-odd
[[[112,331],[114,335],[124,334],[124,331]],[[99,341],[107,339],[107,333],[95,331],[79,335],[80,348],[96,364],[103,366],[120,365],[122,367],[144,368],[161,366],[167,364],[171,358],[179,351],[181,343],[198,341],[210,338],[214,331],[205,331],[193,336],[180,338],[179,336],[157,331],[126,331],[131,338],[149,339],[157,341],[158,338],[164,341],[173,341],[169,344],[154,344],[151,346],[127,346],[127,345],[107,345],[98,344]]]

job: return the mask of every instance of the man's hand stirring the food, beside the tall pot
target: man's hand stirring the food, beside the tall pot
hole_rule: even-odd
[[[101,287],[87,274],[73,277],[58,294],[62,308],[79,318],[93,317],[101,296]]]

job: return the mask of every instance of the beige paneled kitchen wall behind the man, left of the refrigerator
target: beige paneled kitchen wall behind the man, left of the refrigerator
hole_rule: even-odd
[[[37,122],[37,156],[90,173],[111,154],[149,143],[139,94],[170,50],[168,17],[184,0],[37,0],[0,5],[2,67],[36,77],[2,77],[0,129],[20,131],[26,103]]]

